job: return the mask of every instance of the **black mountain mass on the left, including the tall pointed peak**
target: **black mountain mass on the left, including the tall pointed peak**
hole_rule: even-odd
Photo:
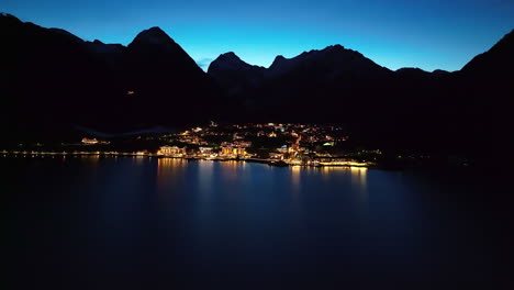
[[[119,131],[200,122],[202,107],[183,105],[209,108],[217,96],[206,74],[158,27],[125,47],[1,14],[0,38],[0,121],[12,138],[59,135],[75,125]]]

